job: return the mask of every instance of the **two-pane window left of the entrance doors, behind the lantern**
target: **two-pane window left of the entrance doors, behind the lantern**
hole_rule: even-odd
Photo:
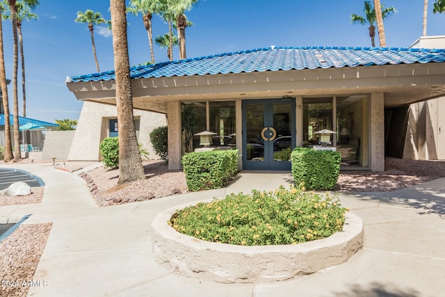
[[[200,145],[202,131],[213,132],[211,147],[220,149],[236,146],[235,102],[182,102],[182,153],[193,152]]]

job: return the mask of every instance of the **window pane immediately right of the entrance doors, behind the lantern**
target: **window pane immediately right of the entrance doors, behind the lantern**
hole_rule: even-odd
[[[332,130],[332,98],[303,99],[303,145],[312,147],[321,142],[316,131]],[[330,136],[330,143],[334,141]]]

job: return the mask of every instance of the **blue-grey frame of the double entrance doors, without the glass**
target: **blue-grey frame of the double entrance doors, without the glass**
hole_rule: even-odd
[[[271,118],[273,121],[274,104],[291,104],[291,150],[296,147],[296,98],[278,98],[278,99],[245,99],[241,102],[242,111],[242,161],[243,170],[291,170],[291,161],[273,160],[273,143],[268,143],[270,149],[264,147],[266,162],[252,161],[247,159],[247,119],[246,107],[252,104],[264,104],[264,119]],[[270,120],[270,119],[269,119]],[[270,126],[270,125],[269,125]],[[266,156],[268,152],[268,156]],[[272,157],[271,157],[272,156]]]

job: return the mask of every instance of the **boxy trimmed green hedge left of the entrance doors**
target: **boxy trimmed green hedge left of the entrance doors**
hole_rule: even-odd
[[[221,188],[238,172],[238,150],[190,152],[182,156],[189,191]]]

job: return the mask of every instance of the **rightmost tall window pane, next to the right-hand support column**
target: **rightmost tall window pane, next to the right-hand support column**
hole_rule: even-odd
[[[343,168],[367,167],[368,96],[337,97],[337,151]]]

